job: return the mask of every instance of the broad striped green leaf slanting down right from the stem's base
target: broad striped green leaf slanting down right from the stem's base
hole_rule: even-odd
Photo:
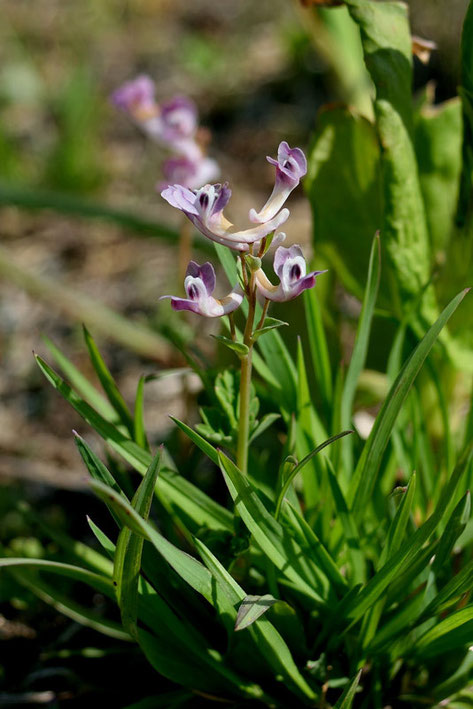
[[[316,590],[317,576],[299,545],[291,539],[283,527],[272,517],[258,497],[248,479],[232,461],[219,452],[220,468],[235,503],[235,507],[248,530],[266,556],[302,593],[317,605],[324,600]]]

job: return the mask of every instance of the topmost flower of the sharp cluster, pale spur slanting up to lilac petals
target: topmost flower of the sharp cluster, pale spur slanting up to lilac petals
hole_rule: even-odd
[[[266,159],[271,165],[276,165],[276,181],[271,196],[261,211],[250,210],[252,222],[272,219],[307,172],[307,160],[302,150],[290,148],[285,141],[279,144],[277,160],[270,157]]]

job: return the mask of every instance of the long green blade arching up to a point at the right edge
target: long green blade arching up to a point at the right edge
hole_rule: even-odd
[[[373,429],[366,441],[350,486],[349,499],[353,501],[355,519],[359,519],[365,510],[375,486],[381,458],[388,444],[402,404],[414,382],[425,358],[432,349],[440,331],[455,312],[468,290],[459,293],[444,309],[437,321],[417,345],[405,362],[396,381],[376,417]]]

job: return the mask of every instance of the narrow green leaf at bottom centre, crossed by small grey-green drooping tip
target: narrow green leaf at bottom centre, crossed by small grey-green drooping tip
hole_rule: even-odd
[[[199,540],[195,540],[197,550],[201,555],[205,565],[210,569],[213,577],[218,585],[226,594],[229,603],[235,608],[239,603],[246,598],[245,591],[235,581],[235,579],[222,566],[212,552]],[[236,610],[234,617],[236,619]],[[316,695],[307,684],[304,677],[299,672],[289,648],[284,642],[276,628],[268,621],[267,618],[260,618],[255,623],[252,623],[248,628],[256,642],[256,645],[263,657],[266,659],[270,667],[277,674],[281,674],[286,678],[286,681],[295,685],[304,697],[315,699]]]

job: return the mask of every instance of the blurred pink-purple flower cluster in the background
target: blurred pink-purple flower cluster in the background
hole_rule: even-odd
[[[154,82],[142,75],[117,89],[112,101],[150,138],[174,153],[163,164],[165,182],[160,190],[174,183],[197,189],[218,177],[217,162],[206,157],[198,140],[197,108],[189,98],[175,96],[158,104]]]

